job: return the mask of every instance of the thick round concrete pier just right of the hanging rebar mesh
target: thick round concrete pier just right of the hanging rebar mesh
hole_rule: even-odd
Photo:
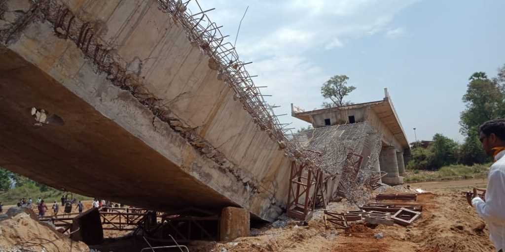
[[[382,178],[383,183],[389,185],[403,183],[403,177],[400,177],[398,172],[398,160],[394,146],[382,147],[379,155],[379,162],[380,169],[387,172],[387,175]]]

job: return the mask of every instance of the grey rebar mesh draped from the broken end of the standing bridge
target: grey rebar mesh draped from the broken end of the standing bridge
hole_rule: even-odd
[[[334,194],[348,200],[361,198],[363,186],[376,176],[382,145],[381,135],[369,121],[302,131],[294,135],[300,158],[313,169],[321,169],[328,180],[338,183]]]

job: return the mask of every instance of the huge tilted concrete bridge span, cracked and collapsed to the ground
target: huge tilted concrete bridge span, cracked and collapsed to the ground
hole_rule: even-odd
[[[156,1],[0,6],[0,166],[155,210],[273,220],[289,159]]]

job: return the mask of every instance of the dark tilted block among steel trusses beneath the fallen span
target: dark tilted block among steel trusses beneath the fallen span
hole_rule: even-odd
[[[70,236],[74,241],[82,241],[86,245],[96,245],[104,240],[104,230],[97,208],[89,209],[74,217],[70,231],[73,232],[77,228],[79,230]]]

